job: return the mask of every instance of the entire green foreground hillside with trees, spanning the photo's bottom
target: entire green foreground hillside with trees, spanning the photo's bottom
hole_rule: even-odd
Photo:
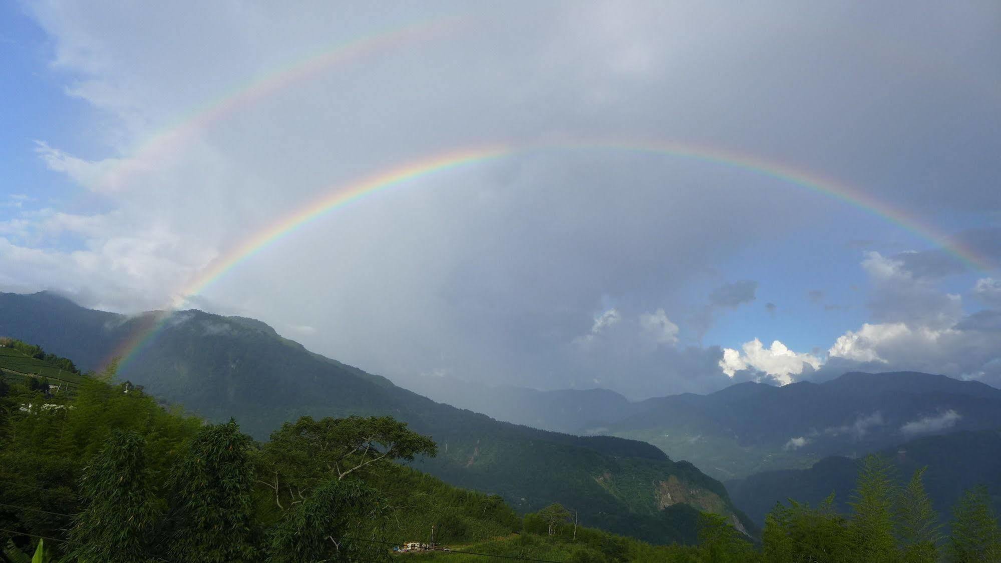
[[[847,514],[827,503],[776,506],[755,545],[726,518],[674,504],[661,513],[664,523],[691,525],[699,545],[654,546],[581,525],[576,511],[560,505],[519,517],[496,496],[393,462],[436,449],[391,417],[305,417],[254,442],[235,421],[205,424],[125,384],[88,378],[59,396],[14,384],[0,388],[0,559],[933,563],[942,555],[1001,556],[987,489],[963,492],[947,537],[924,509],[922,474],[896,486],[876,456],[859,465]],[[417,549],[401,552],[410,542]]]

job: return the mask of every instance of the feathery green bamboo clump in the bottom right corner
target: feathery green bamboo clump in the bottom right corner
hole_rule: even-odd
[[[1001,530],[991,508],[987,487],[963,493],[952,511],[952,535],[946,545],[948,560],[954,563],[1001,561]]]

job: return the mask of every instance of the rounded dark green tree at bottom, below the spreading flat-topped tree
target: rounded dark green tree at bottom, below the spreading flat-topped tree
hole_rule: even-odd
[[[386,501],[375,489],[355,480],[330,479],[274,527],[270,563],[387,560],[380,543]]]

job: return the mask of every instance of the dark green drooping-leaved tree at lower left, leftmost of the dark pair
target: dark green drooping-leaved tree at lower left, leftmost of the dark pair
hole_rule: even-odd
[[[86,508],[74,518],[71,552],[80,563],[131,563],[150,555],[162,514],[146,467],[146,441],[115,431],[84,467],[80,495]]]

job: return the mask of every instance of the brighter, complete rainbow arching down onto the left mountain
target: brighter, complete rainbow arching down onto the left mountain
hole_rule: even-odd
[[[837,180],[790,165],[768,161],[749,154],[736,153],[714,147],[698,146],[690,143],[665,141],[581,142],[570,144],[534,143],[494,145],[478,149],[444,152],[430,158],[416,160],[388,171],[361,178],[352,183],[329,186],[322,190],[323,196],[304,205],[297,211],[285,215],[270,226],[261,229],[221,258],[216,259],[195,280],[179,292],[175,306],[183,303],[185,298],[201,293],[224,277],[226,273],[233,270],[237,265],[250,259],[263,248],[291,235],[303,226],[335,210],[360,201],[367,196],[398,188],[413,180],[440,174],[447,170],[537,150],[615,150],[651,153],[744,170],[751,174],[772,178],[785,184],[810,190],[879,217],[918,238],[928,241],[936,247],[945,249],[955,259],[977,271],[993,269],[993,266],[987,259],[979,256],[972,249],[954,242],[946,233],[937,230],[931,225],[921,223],[917,218]],[[136,331],[133,338],[125,342],[115,352],[113,357],[120,357],[121,365],[124,366],[146,343],[152,340],[164,326],[168,318],[169,315],[163,315],[161,320],[153,323],[150,327]]]

